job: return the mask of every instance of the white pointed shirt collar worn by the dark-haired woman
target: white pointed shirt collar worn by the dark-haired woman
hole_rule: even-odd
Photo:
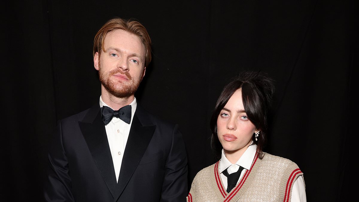
[[[241,158],[238,159],[238,161],[236,162],[236,165],[242,166],[245,169],[249,170],[251,168],[253,159],[256,155],[256,151],[257,151],[257,145],[253,144],[253,142],[252,142],[252,145],[250,145],[247,148],[247,150],[244,151]],[[224,149],[222,149],[222,157],[221,157],[221,164],[219,167],[219,172],[222,173],[225,169],[227,169],[231,165],[232,165],[232,163],[227,159],[227,157],[225,157]]]

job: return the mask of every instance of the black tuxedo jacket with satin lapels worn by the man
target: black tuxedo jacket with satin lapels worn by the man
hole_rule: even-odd
[[[185,201],[187,155],[178,126],[137,104],[116,183],[100,106],[58,122],[48,153],[46,201]]]

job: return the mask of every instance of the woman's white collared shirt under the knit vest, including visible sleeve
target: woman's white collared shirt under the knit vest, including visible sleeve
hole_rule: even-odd
[[[253,142],[252,142],[253,143]],[[223,171],[227,169],[228,174],[237,172],[239,169],[239,166],[244,167],[242,170],[241,176],[239,176],[238,182],[241,181],[242,176],[244,175],[244,172],[246,170],[249,170],[251,168],[254,156],[256,155],[257,145],[252,144],[247,148],[246,151],[244,151],[241,158],[238,159],[236,164],[232,164],[226,157],[224,149],[222,149],[222,158],[219,165],[219,172],[222,178],[222,182],[224,185],[224,189],[227,189],[227,177],[223,174]],[[237,182],[237,184],[238,184]],[[306,189],[304,188],[304,183],[302,176],[298,176],[297,180],[295,180],[293,189],[292,189],[292,202],[306,202]]]

